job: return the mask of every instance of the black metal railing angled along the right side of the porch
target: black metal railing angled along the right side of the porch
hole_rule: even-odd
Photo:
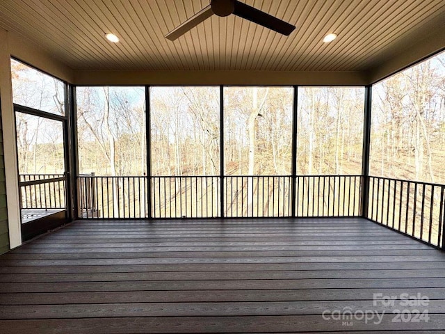
[[[445,185],[371,176],[367,218],[444,248]]]

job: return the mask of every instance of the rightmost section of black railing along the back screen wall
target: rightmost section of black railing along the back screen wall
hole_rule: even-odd
[[[361,175],[296,177],[297,217],[351,217],[361,214]]]

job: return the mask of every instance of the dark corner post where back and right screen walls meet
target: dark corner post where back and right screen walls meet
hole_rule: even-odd
[[[362,193],[360,194],[360,216],[368,217],[369,205],[369,146],[371,145],[371,102],[372,86],[365,86],[364,91],[364,122],[363,122],[363,150],[362,150]]]

